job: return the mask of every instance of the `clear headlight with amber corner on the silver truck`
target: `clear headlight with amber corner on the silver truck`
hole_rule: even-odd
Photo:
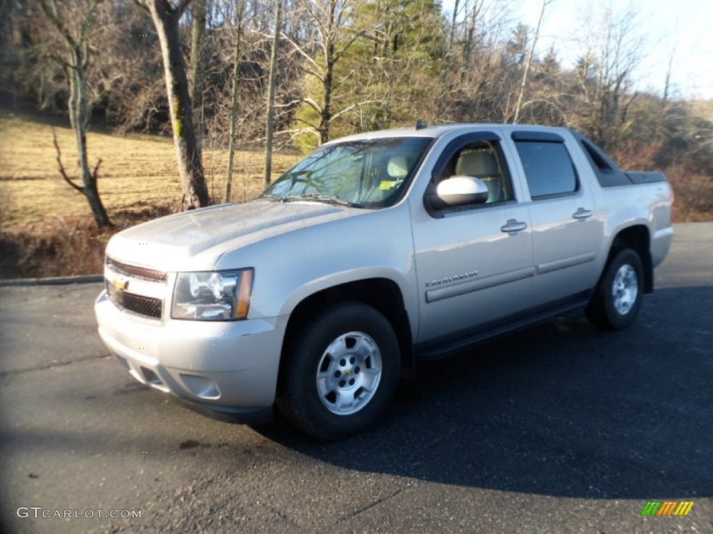
[[[254,271],[178,273],[173,288],[174,319],[234,320],[247,318]]]

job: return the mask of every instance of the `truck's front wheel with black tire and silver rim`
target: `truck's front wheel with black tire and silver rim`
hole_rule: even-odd
[[[376,424],[399,382],[399,342],[389,320],[349,302],[299,328],[283,356],[277,407],[284,417],[322,441]]]

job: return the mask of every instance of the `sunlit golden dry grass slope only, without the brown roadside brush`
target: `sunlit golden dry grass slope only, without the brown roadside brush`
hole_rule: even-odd
[[[0,209],[4,230],[58,217],[88,216],[81,194],[61,179],[53,146],[54,128],[62,161],[70,176],[78,176],[77,152],[71,128],[0,110]],[[101,158],[99,193],[110,216],[173,206],[181,194],[173,142],[166,137],[89,132],[90,164]],[[222,199],[227,152],[205,151],[207,184],[214,199]],[[234,168],[234,201],[255,197],[262,189],[262,152],[238,152]],[[276,155],[279,175],[297,157]]]

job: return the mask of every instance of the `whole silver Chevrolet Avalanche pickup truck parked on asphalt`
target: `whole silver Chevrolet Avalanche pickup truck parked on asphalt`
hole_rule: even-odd
[[[672,189],[565,128],[449,125],[329,142],[247,204],[106,248],[99,334],[135,379],[318,439],[373,425],[420,358],[583,307],[630,325]]]

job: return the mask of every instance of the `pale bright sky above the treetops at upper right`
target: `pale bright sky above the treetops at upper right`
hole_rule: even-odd
[[[497,1],[497,0],[492,0]],[[462,0],[461,0],[462,3]],[[542,0],[506,0],[515,23],[534,28]],[[453,0],[443,0],[446,10]],[[560,63],[569,68],[583,52],[585,21],[592,6],[609,6],[614,14],[627,9],[635,18],[632,28],[642,39],[642,61],[634,73],[635,88],[663,94],[666,73],[672,61],[672,96],[683,99],[713,99],[713,1],[711,0],[550,0],[535,51],[543,56],[555,46]]]

